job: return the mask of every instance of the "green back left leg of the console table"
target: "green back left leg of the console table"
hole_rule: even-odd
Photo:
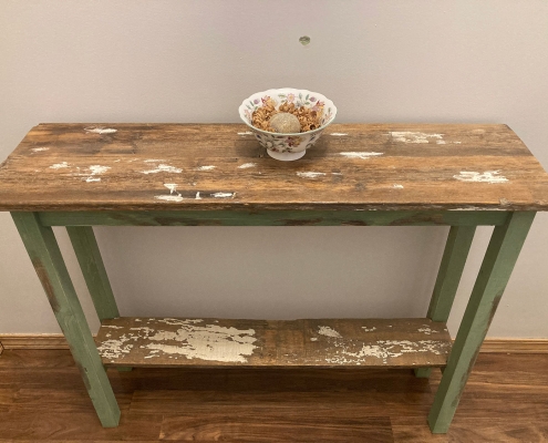
[[[101,258],[95,235],[91,226],[66,226],[80,269],[84,276],[95,311],[101,321],[120,317],[111,282]],[[120,372],[131,371],[131,367],[117,368]]]

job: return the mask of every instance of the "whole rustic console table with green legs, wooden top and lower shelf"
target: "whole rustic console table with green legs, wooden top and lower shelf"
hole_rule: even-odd
[[[244,125],[41,124],[0,166],[9,210],[103,426],[106,367],[374,365],[444,374],[428,423],[447,431],[548,175],[505,125],[332,125],[278,162]],[[92,226],[401,226],[451,230],[420,319],[120,317]],[[476,226],[495,226],[452,347],[445,322]],[[66,226],[101,329],[94,341],[52,226]]]

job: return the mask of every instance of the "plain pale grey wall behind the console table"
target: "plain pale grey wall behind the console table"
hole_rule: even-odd
[[[506,123],[546,167],[547,49],[544,0],[2,1],[0,161],[40,122],[237,122],[244,97],[294,86],[332,99],[340,123]],[[490,337],[548,337],[547,228],[538,215]],[[96,229],[122,315],[279,319],[424,316],[446,233]],[[59,332],[8,214],[0,250],[0,333]]]

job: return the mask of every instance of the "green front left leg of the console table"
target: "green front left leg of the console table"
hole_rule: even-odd
[[[34,213],[12,213],[12,217],[101,423],[104,427],[117,426],[120,409],[53,230],[42,226]]]

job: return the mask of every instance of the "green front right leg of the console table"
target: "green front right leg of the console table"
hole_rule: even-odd
[[[504,226],[497,226],[493,231],[428,415],[433,433],[445,433],[449,429],[466,381],[534,218],[533,212],[513,213]]]

